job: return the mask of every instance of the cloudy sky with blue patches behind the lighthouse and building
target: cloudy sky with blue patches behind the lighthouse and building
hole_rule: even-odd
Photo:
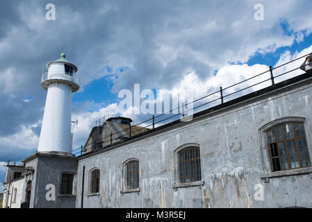
[[[46,19],[48,3],[55,21]],[[74,149],[106,114],[142,120],[117,110],[118,92],[135,83],[172,94],[194,89],[198,97],[310,53],[311,8],[311,0],[1,1],[0,180],[7,160],[38,148],[42,68],[60,53],[81,80],[72,96]]]

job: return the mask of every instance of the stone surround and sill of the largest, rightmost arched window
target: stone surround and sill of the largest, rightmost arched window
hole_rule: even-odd
[[[274,128],[276,126],[285,124],[285,123],[302,123],[304,126],[304,131],[306,135],[306,146],[308,146],[309,157],[311,161],[311,128],[308,124],[306,124],[306,118],[304,117],[284,117],[280,119],[275,119],[266,123],[264,126],[258,129],[258,138],[259,138],[259,145],[260,151],[258,152],[259,156],[261,157],[261,167],[262,173],[261,178],[265,179],[265,182],[270,182],[269,178],[274,178],[278,176],[290,176],[302,173],[311,173],[312,167],[304,167],[304,168],[296,168],[296,169],[287,169],[281,171],[272,171],[271,159],[270,159],[270,151],[268,150],[268,136],[267,131],[270,128]],[[312,164],[312,162],[311,162]]]

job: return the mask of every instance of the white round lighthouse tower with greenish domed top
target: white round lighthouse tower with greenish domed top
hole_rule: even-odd
[[[41,85],[47,89],[38,153],[66,152],[72,154],[72,93],[79,90],[77,67],[65,60],[62,53],[59,60],[47,64],[42,74]]]

